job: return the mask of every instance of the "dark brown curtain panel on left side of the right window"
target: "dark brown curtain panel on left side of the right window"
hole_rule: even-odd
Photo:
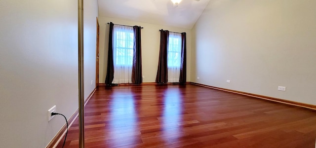
[[[167,67],[167,57],[168,57],[168,39],[169,31],[160,30],[160,51],[159,51],[159,62],[158,71],[156,76],[157,83],[168,82],[168,67]]]

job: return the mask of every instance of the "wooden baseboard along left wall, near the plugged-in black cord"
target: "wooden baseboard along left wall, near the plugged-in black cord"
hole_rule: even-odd
[[[84,101],[84,106],[88,103],[92,95],[94,94],[96,88],[89,94],[87,99]],[[73,115],[68,119],[69,127],[73,125],[76,118],[79,116],[78,109],[73,113]],[[50,143],[46,146],[46,148],[56,148],[60,141],[62,141],[62,138],[65,136],[67,130],[67,125],[64,124],[64,126],[58,131],[56,136],[50,141]]]

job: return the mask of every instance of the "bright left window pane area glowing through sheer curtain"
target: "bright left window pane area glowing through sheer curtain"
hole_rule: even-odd
[[[116,66],[133,65],[134,32],[132,27],[118,26],[114,29],[113,60]]]

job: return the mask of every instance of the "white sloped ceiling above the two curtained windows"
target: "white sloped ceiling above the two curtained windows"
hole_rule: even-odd
[[[192,29],[210,0],[98,0],[99,16]]]

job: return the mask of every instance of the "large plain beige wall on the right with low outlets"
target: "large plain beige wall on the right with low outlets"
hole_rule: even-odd
[[[193,29],[192,81],[316,105],[315,8],[316,0],[212,0]]]

